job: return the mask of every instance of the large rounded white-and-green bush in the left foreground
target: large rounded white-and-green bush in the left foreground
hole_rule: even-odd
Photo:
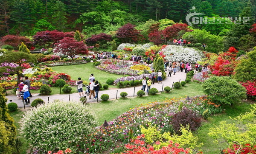
[[[80,102],[55,101],[29,110],[21,120],[21,134],[41,153],[49,149],[76,149],[96,126],[95,115]]]

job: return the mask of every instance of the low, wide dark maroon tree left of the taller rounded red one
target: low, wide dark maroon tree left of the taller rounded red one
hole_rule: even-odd
[[[111,41],[112,40],[112,36],[105,34],[105,33],[101,33],[101,34],[97,34],[97,35],[92,35],[90,38],[86,39],[86,43],[93,45],[95,43],[105,43],[107,41]]]

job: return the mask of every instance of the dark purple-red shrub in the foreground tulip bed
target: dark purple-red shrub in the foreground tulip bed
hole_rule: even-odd
[[[189,130],[196,131],[201,126],[202,118],[192,109],[182,109],[172,117],[171,125],[177,134],[180,134],[180,126],[188,126]]]

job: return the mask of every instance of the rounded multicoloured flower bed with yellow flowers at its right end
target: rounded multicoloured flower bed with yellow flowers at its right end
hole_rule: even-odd
[[[131,67],[137,70],[134,70]],[[151,69],[148,64],[141,64],[139,62],[116,59],[102,59],[101,64],[96,66],[96,68],[98,68],[99,70],[106,71],[108,73],[129,76],[136,76],[141,74],[141,72],[143,72],[143,70],[139,70],[141,68],[145,68],[145,70]]]

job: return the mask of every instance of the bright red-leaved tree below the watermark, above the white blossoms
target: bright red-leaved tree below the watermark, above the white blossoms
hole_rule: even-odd
[[[176,23],[172,26],[166,27],[163,30],[163,37],[166,40],[175,39],[177,38],[179,31],[192,31],[188,28],[186,23]]]

